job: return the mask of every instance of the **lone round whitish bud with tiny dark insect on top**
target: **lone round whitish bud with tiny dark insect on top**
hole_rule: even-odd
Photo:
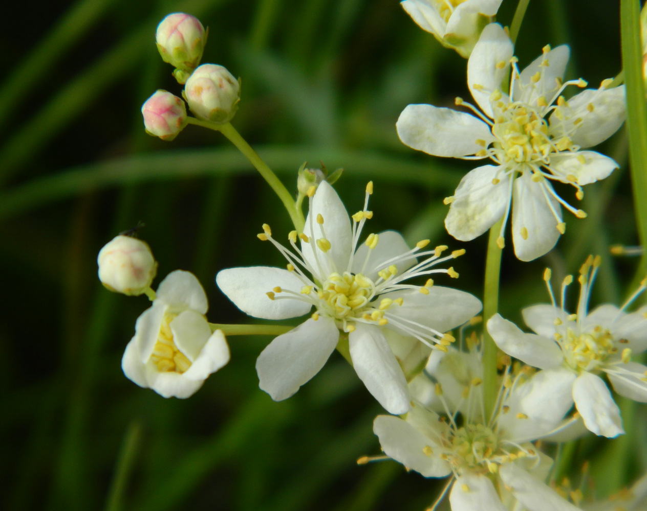
[[[99,280],[110,291],[138,296],[150,287],[157,262],[148,244],[131,236],[116,236],[96,258]]]

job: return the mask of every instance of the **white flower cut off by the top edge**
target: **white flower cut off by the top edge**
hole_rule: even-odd
[[[501,0],[404,0],[400,5],[443,46],[469,57]]]

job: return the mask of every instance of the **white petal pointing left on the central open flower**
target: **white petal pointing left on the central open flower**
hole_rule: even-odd
[[[228,268],[218,272],[215,283],[244,313],[263,319],[303,316],[313,307],[301,300],[271,300],[267,293],[275,287],[300,293],[303,282],[292,271],[270,266]],[[275,293],[277,297],[290,295]]]

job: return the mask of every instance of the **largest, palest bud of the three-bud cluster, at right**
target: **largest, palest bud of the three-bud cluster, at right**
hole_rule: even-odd
[[[186,81],[184,98],[196,117],[225,124],[238,110],[240,83],[223,66],[203,64]]]

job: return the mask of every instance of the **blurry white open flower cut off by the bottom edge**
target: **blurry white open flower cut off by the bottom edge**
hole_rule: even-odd
[[[510,506],[514,499],[529,511],[575,510],[543,483],[553,461],[530,443],[570,422],[562,421],[572,403],[559,381],[545,371],[512,378],[508,366],[485,421],[481,378],[474,376],[483,371],[479,355],[450,348],[432,359],[421,377],[435,388],[445,417],[419,401],[404,419],[379,415],[373,431],[384,453],[425,477],[451,475],[445,491],[451,486],[453,511],[519,508]],[[411,393],[420,397],[413,387]]]

